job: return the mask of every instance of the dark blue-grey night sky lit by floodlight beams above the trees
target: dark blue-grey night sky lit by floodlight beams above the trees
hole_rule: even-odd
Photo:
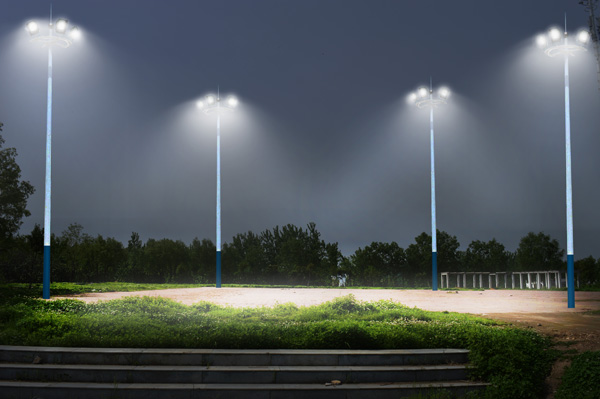
[[[345,255],[430,233],[433,79],[438,228],[509,250],[530,231],[566,246],[563,61],[534,36],[587,24],[577,0],[54,0],[84,39],[54,51],[52,232],[215,240],[222,120],[223,240],[315,222]],[[47,52],[24,23],[50,2],[0,0],[0,121],[43,225]],[[591,50],[591,48],[590,48]],[[575,258],[600,257],[600,91],[571,58]]]

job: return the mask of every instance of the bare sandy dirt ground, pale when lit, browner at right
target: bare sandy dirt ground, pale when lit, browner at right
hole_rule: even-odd
[[[575,309],[567,308],[565,291],[488,290],[361,290],[319,288],[182,288],[137,292],[88,293],[77,296],[85,302],[129,296],[171,298],[186,305],[208,301],[233,307],[273,306],[293,302],[311,306],[352,294],[361,301],[392,300],[424,310],[471,313],[533,328],[551,337],[556,348],[581,353],[600,350],[600,292],[576,292]],[[58,298],[56,298],[58,299]],[[590,313],[596,311],[596,313]],[[548,396],[558,387],[570,360],[560,359],[547,380]]]

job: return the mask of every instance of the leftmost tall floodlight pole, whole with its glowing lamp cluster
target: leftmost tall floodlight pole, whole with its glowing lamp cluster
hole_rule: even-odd
[[[31,35],[31,42],[48,48],[48,102],[46,108],[46,181],[44,202],[44,273],[42,297],[50,299],[50,206],[52,189],[52,47],[67,48],[73,44],[73,39],[78,39],[81,33],[77,27],[69,29],[69,21],[58,18],[52,22],[52,9],[50,10],[50,23],[44,32],[40,31],[37,22],[29,21],[25,29]]]

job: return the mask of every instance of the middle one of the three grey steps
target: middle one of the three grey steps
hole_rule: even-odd
[[[169,384],[324,384],[453,381],[467,366],[137,366],[0,364],[0,380]]]

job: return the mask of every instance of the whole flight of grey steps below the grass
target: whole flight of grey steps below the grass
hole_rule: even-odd
[[[0,346],[2,398],[462,396],[468,351],[103,349]],[[339,383],[338,383],[339,382]]]

